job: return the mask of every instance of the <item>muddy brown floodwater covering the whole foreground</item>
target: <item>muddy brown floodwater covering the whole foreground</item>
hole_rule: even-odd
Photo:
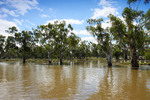
[[[0,100],[150,100],[150,66],[0,63]]]

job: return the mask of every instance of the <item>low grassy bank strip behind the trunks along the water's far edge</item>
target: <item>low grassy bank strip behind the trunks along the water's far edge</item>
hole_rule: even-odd
[[[87,57],[82,59],[63,59],[64,64],[70,63],[80,63],[80,62],[88,62],[88,61],[97,61],[100,60],[102,63],[106,63],[106,58],[97,58],[97,57]],[[22,59],[0,59],[0,62],[22,62]],[[40,64],[48,64],[48,59],[27,59],[27,63],[40,63]],[[112,59],[112,63],[115,65],[130,65],[130,60],[116,60]],[[51,64],[59,64],[59,59],[52,59]],[[139,65],[150,65],[150,60],[139,60]]]

